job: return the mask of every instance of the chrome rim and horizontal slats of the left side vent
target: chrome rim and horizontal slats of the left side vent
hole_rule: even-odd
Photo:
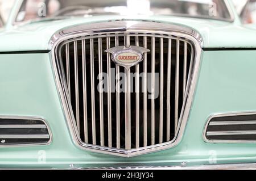
[[[8,123],[1,123],[1,121],[5,121]],[[11,122],[15,124],[11,124]],[[27,123],[22,123],[22,121],[27,121]],[[34,123],[37,121],[38,123]],[[31,122],[31,123],[30,123]],[[28,124],[30,123],[30,124]],[[26,129],[32,130],[46,130],[46,133],[23,133]],[[15,133],[10,133],[13,132]],[[2,133],[5,131],[5,133]],[[7,131],[7,132],[6,132]],[[18,132],[18,133],[17,133]],[[22,134],[21,134],[22,133]],[[8,147],[23,147],[23,146],[43,146],[49,145],[52,142],[52,132],[48,126],[48,123],[42,117],[35,116],[3,116],[0,115],[0,148],[8,148]],[[15,139],[17,141],[14,142],[6,142],[5,140]],[[31,141],[26,141],[29,139]],[[20,141],[19,140],[23,140]],[[2,142],[5,141],[5,142]]]

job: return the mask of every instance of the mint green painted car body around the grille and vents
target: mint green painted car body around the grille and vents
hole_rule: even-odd
[[[16,4],[18,6],[18,1]],[[256,162],[256,144],[212,144],[203,139],[209,116],[256,112],[256,50],[251,49],[256,48],[256,31],[242,25],[237,15],[234,22],[176,16],[96,16],[12,26],[14,16],[15,10],[6,28],[0,32],[0,115],[43,117],[51,128],[53,139],[46,146],[0,147],[1,168],[200,166]],[[19,53],[51,50],[52,35],[64,28],[115,19],[177,24],[199,32],[203,39],[204,50],[191,112],[183,138],[174,148],[132,158],[81,150],[74,144],[65,120],[51,52]],[[212,51],[208,48],[235,49]],[[46,159],[42,159],[42,154]]]

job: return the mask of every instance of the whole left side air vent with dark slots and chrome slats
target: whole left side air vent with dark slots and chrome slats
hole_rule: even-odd
[[[41,145],[50,141],[49,129],[42,119],[0,118],[0,146]]]

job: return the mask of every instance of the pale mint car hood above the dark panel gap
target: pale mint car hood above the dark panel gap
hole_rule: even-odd
[[[192,28],[201,35],[203,48],[256,47],[255,30],[220,20],[176,16],[92,16],[33,22],[15,26],[11,30],[2,30],[0,31],[0,51],[49,50],[51,37],[60,30],[110,20],[146,20]]]

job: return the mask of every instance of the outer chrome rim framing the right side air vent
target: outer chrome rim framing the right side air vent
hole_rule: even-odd
[[[215,117],[228,117],[228,116],[243,116],[243,115],[256,115],[256,111],[251,112],[231,112],[231,113],[216,113],[207,119],[207,123],[205,124],[204,131],[203,131],[203,140],[208,143],[227,143],[227,144],[235,144],[235,143],[256,143],[256,140],[208,140],[207,136],[207,128],[210,123],[210,120],[212,120]],[[228,121],[225,121],[228,122]],[[243,132],[243,131],[240,131]],[[248,132],[249,133],[249,132]],[[254,134],[254,131],[252,132]],[[256,134],[256,131],[255,131]],[[226,135],[226,134],[225,134]],[[241,134],[232,134],[230,135],[241,135]]]

